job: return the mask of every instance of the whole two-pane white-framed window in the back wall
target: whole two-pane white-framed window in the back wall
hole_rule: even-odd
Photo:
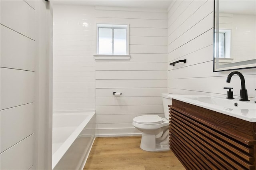
[[[97,24],[97,54],[129,55],[128,25]]]

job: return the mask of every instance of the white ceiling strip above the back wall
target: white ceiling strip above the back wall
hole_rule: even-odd
[[[154,8],[167,10],[172,0],[51,0],[54,4]]]

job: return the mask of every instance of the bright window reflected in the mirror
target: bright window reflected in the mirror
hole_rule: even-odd
[[[231,45],[231,30],[224,30],[220,29],[219,33],[215,35],[215,44],[218,45],[218,55],[217,54],[217,49],[216,46],[214,47],[214,57],[219,57],[219,58],[230,58],[230,45]],[[218,37],[218,42],[216,42],[217,37]]]

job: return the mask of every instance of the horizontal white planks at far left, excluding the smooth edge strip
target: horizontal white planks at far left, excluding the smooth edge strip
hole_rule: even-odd
[[[0,169],[28,170],[36,156],[35,3],[1,1],[0,13]]]

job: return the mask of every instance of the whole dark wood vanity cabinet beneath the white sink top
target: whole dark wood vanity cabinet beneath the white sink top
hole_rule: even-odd
[[[256,123],[172,99],[170,149],[188,170],[256,169]]]

